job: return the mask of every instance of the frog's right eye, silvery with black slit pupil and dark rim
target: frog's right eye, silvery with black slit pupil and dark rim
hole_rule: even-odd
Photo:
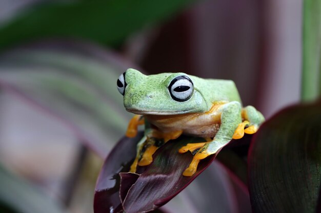
[[[187,76],[178,76],[169,84],[168,90],[175,101],[187,101],[194,91],[193,82]]]

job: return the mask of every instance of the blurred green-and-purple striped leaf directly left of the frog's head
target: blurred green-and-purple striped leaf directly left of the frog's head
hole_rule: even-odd
[[[0,86],[64,122],[105,157],[130,114],[116,80],[131,65],[84,43],[44,42],[0,57]]]

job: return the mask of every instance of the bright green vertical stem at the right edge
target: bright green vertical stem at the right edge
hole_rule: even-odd
[[[321,95],[321,2],[305,0],[303,11],[302,100]]]

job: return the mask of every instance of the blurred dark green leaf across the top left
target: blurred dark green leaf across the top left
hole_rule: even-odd
[[[0,49],[46,37],[117,45],[129,34],[172,16],[192,0],[52,1],[29,8],[0,29]]]

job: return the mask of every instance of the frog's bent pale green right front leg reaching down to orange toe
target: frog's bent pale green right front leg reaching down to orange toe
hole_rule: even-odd
[[[232,139],[235,129],[239,123],[242,123],[241,105],[233,101],[224,104],[219,108],[220,127],[212,141],[205,143],[193,157],[189,167],[184,171],[184,176],[192,176],[196,170],[199,160],[209,155],[215,154],[219,149],[223,148]]]

